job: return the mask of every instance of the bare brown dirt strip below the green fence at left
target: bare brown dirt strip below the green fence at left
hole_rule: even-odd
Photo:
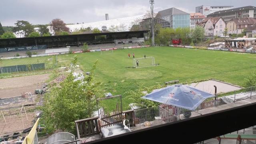
[[[20,96],[26,92],[34,94],[36,89],[42,88],[42,84],[48,80],[49,76],[50,74],[40,74],[0,79],[0,98]]]

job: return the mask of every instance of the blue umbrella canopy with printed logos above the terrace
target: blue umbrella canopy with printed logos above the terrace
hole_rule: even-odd
[[[214,95],[190,86],[178,84],[153,90],[153,92],[142,98],[188,110],[196,110],[204,100],[211,97],[214,97]]]

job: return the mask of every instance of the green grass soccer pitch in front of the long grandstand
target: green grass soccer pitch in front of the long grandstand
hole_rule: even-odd
[[[154,57],[158,66],[146,68],[131,68],[133,66],[132,53],[135,58]],[[131,57],[128,58],[128,53]],[[140,85],[152,86],[164,84],[166,81],[180,80],[192,82],[214,78],[239,86],[244,86],[244,78],[256,70],[256,55],[224,51],[197,50],[188,48],[150,47],[138,49],[114,50],[101,54],[90,52],[76,54],[78,63],[84,72],[88,72],[98,59],[95,79],[102,81],[101,88],[113,95],[121,94],[125,97],[127,90],[136,90]],[[70,64],[74,54],[59,55],[58,64]],[[38,58],[24,58],[16,60],[2,60],[3,64],[28,64],[37,62]],[[48,57],[40,57],[42,62]],[[26,60],[26,62],[23,62]],[[10,65],[10,64],[9,64]],[[106,101],[109,108],[115,107],[115,100]],[[123,108],[131,103],[123,99]]]

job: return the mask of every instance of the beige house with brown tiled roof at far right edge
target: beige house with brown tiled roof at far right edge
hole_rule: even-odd
[[[244,29],[256,24],[256,18],[233,18],[227,22],[229,34],[241,34]]]

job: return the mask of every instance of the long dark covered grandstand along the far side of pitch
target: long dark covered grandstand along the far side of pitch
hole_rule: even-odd
[[[100,37],[100,39],[99,39]],[[104,38],[102,38],[104,37]],[[148,31],[106,32],[94,34],[72,34],[63,36],[43,36],[28,38],[0,39],[0,52],[38,50],[45,48],[59,48],[66,46],[82,46],[95,44],[118,44],[118,42],[139,43],[148,37]]]

